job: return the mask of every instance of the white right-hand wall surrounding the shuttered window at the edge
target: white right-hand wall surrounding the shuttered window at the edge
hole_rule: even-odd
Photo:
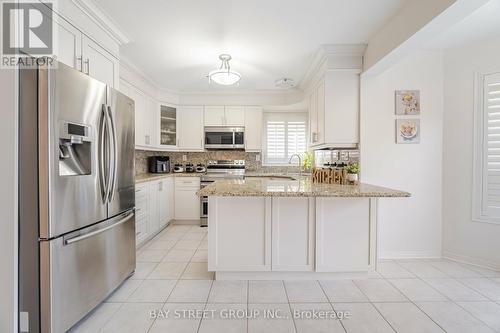
[[[444,56],[443,254],[500,269],[500,225],[472,222],[474,73],[500,72],[500,37]]]

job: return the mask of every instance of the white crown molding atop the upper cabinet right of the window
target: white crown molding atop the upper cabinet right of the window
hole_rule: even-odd
[[[300,80],[299,88],[308,91],[327,70],[361,73],[366,44],[324,44],[314,55]]]

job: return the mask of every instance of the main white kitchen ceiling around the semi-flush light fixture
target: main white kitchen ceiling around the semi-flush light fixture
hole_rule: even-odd
[[[407,0],[94,1],[132,39],[122,56],[159,87],[205,92],[300,83],[320,45],[368,42]],[[221,53],[239,87],[208,84]]]

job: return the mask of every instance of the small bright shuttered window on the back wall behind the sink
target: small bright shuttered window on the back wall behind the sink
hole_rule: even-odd
[[[265,113],[263,135],[264,164],[288,165],[293,154],[307,150],[307,113]]]

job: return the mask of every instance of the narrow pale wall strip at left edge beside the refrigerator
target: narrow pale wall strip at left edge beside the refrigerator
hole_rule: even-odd
[[[16,72],[0,70],[0,332],[17,327],[17,95]]]

